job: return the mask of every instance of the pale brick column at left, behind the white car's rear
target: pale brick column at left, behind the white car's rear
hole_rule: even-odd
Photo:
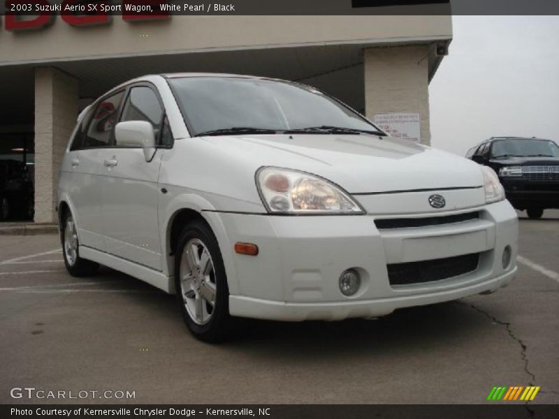
[[[35,222],[55,223],[58,177],[78,117],[78,80],[54,67],[35,69]]]

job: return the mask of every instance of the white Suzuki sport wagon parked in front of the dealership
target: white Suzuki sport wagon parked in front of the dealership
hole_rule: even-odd
[[[78,117],[57,210],[71,274],[103,264],[176,293],[206,341],[234,317],[372,318],[516,273],[516,212],[493,170],[268,78],[115,87]]]

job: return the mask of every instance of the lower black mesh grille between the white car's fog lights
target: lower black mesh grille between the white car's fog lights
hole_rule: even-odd
[[[386,267],[391,285],[409,285],[458,277],[476,270],[478,263],[479,253],[470,253],[452,258],[393,263]]]

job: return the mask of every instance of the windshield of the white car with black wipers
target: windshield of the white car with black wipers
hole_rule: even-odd
[[[384,135],[361,115],[301,84],[202,76],[168,82],[193,136],[300,130]]]

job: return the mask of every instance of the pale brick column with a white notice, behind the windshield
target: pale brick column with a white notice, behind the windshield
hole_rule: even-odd
[[[365,50],[365,115],[419,113],[421,143],[430,145],[429,46],[377,47]]]

